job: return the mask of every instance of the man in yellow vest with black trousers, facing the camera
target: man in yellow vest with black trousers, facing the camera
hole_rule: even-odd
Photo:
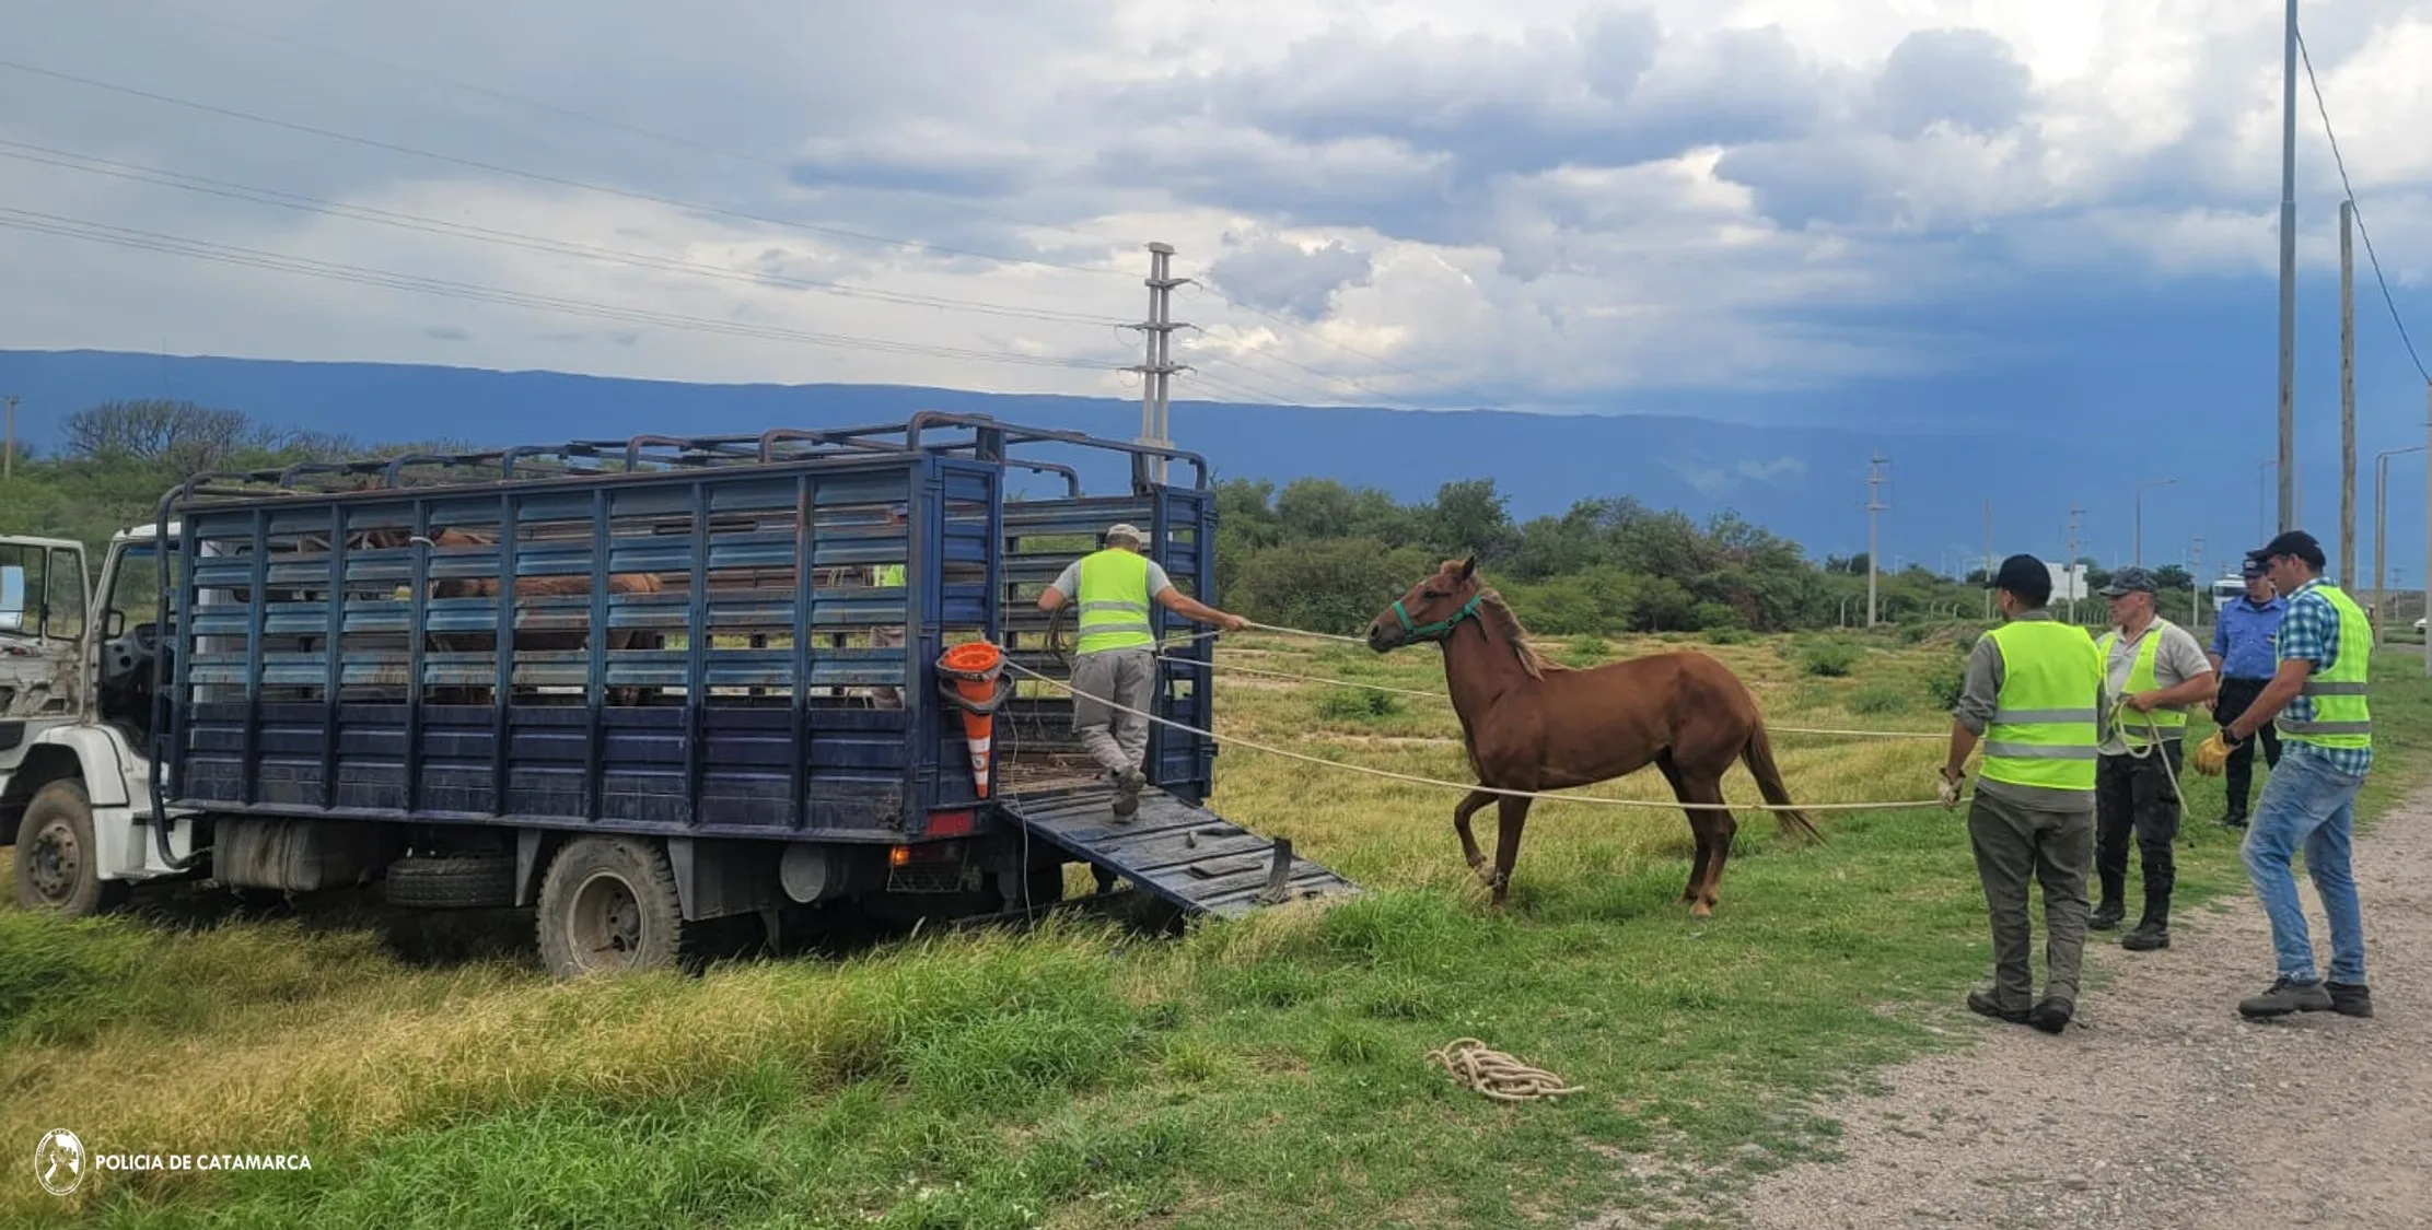
[[[2128,834],[2135,834],[2145,914],[2121,936],[2121,948],[2130,953],[2169,948],[2186,710],[2208,703],[2218,683],[2203,644],[2155,613],[2157,588],[2145,569],[2111,574],[2101,596],[2111,600],[2113,627],[2094,642],[2104,654],[2104,741],[2094,768],[2094,880],[2101,897],[2087,926],[2111,931],[2128,914]]]

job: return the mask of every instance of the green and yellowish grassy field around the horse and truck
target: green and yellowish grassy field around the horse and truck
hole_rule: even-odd
[[[1578,664],[1673,647],[1549,644]],[[1965,639],[1681,647],[1739,671],[1775,724],[1943,732],[1933,693]],[[2427,768],[2417,654],[2376,659],[2374,814]],[[1223,661],[1440,685],[1432,651],[1235,637]],[[1216,710],[1231,737],[1462,778],[1430,700],[1226,673]],[[1778,734],[1775,754],[1802,802],[1916,800],[1941,744]],[[1727,790],[1756,797],[1744,771]],[[1668,797],[1654,773],[1603,792]],[[2182,899],[2245,892],[2218,778],[2189,792]],[[1182,938],[1058,921],[691,980],[554,984],[482,946],[401,960],[345,916],[0,912],[0,1147],[73,1128],[102,1152],[311,1157],[105,1174],[71,1201],[15,1162],[0,1220],[1566,1225],[1829,1155],[1819,1096],[1994,1028],[1960,1009],[1987,960],[1963,814],[1829,812],[1826,846],[1790,848],[1744,812],[1722,904],[1693,924],[1681,812],[1539,805],[1493,916],[1447,824],[1457,797],[1231,749],[1214,807],[1367,895]],[[2262,987],[2269,953],[2252,958]],[[1428,1065],[1454,1038],[1586,1091],[1488,1101]]]

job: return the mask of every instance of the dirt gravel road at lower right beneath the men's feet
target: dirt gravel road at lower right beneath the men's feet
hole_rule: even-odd
[[[1953,1028],[1982,1040],[1822,1108],[1843,1123],[1841,1160],[1775,1172],[1710,1215],[1800,1230],[2432,1228],[2432,788],[2357,839],[2354,863],[2374,1019],[2237,1016],[2271,982],[2252,892],[2182,912],[2164,953],[2096,933],[2089,972],[2113,977],[2082,994],[2084,1028],[2050,1038],[1960,1011]],[[2040,926],[2038,907],[2038,946]]]

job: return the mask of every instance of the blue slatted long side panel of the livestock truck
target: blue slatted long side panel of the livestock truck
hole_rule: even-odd
[[[975,797],[961,724],[922,695],[934,683],[919,666],[997,627],[997,467],[929,455],[195,510],[190,540],[241,554],[187,571],[173,795],[226,807],[250,792],[248,809],[287,814],[900,836],[907,809]],[[873,513],[895,501],[912,501],[910,527]],[[501,552],[443,535],[491,537],[501,520],[533,537]],[[268,552],[250,549],[255,532]],[[443,542],[409,545],[413,532]],[[910,586],[871,588],[871,564],[910,564]],[[511,600],[516,700],[501,710],[501,603],[465,588],[508,571],[586,583]],[[664,583],[598,586],[632,574]],[[598,615],[603,647],[589,637]],[[868,644],[873,627],[905,625],[910,647]],[[905,688],[905,710],[837,695],[871,685]],[[562,695],[528,695],[542,688]],[[618,688],[659,693],[625,705]]]

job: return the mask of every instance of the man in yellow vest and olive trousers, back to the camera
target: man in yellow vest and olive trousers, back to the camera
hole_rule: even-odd
[[[1967,839],[1992,916],[1992,987],[1967,1006],[1997,1021],[2067,1028],[2087,946],[2087,863],[2094,853],[2094,746],[2104,664],[2084,627],[2053,620],[2053,571],[2031,554],[2002,562],[1992,586],[2006,622],[1967,656],[1950,710],[1943,807],[1958,805],[1967,754],[1985,741]],[[2045,975],[2033,997],[2026,885],[2043,885]]]

